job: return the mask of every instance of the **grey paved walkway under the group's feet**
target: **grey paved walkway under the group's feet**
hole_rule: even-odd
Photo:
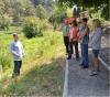
[[[90,53],[90,52],[89,52]],[[109,72],[101,65],[100,74],[90,76],[90,68],[81,68],[74,58],[68,61],[66,97],[109,97]]]

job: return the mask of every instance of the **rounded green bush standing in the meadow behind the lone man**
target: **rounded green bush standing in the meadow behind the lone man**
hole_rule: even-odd
[[[47,29],[47,21],[40,20],[35,17],[28,17],[24,19],[23,33],[26,37],[42,36],[43,31]]]

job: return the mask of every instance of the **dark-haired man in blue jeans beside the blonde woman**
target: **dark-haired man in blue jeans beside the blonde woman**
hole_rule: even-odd
[[[81,66],[82,68],[88,68],[89,67],[89,61],[88,61],[88,42],[89,42],[89,28],[87,25],[87,18],[84,18],[81,20],[81,33],[79,35],[79,41],[81,44],[81,52],[82,52],[82,62]]]

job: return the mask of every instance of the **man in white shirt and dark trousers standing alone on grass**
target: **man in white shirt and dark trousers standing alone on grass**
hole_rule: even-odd
[[[14,40],[10,44],[10,52],[13,56],[13,62],[14,62],[14,71],[12,77],[20,75],[20,68],[22,66],[22,57],[24,56],[23,45],[19,41],[19,36],[16,33],[13,34],[13,39]]]

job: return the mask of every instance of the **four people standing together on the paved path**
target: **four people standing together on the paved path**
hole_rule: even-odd
[[[80,19],[78,21],[73,20],[70,23],[68,20],[65,20],[63,23],[63,37],[66,47],[67,60],[72,60],[74,47],[76,61],[79,60],[78,44],[80,43],[81,63],[79,65],[82,66],[82,68],[89,67],[88,44],[91,46],[94,55],[94,69],[90,75],[94,76],[99,73],[100,67],[98,55],[101,45],[102,30],[98,19],[92,20],[92,29],[89,29],[87,22],[87,18]]]

